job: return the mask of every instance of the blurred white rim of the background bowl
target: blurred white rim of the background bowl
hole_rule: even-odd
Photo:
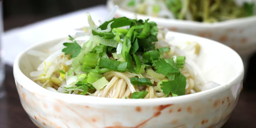
[[[115,4],[114,1],[116,0],[108,0],[107,1],[107,7],[109,10],[111,10]],[[164,24],[164,26],[168,27],[175,27],[179,25],[183,25],[183,28],[186,28],[187,26],[189,27],[200,27],[200,28],[214,28],[214,27],[222,27],[222,26],[234,26],[237,24],[241,23],[246,23],[246,22],[256,22],[256,15],[254,16],[249,16],[249,17],[244,17],[244,18],[237,18],[237,19],[231,19],[231,20],[225,20],[225,21],[220,21],[220,22],[213,22],[213,23],[204,23],[204,22],[198,22],[198,21],[190,21],[190,20],[179,20],[179,19],[166,19],[166,18],[161,18],[161,17],[154,17],[154,16],[149,16],[149,15],[143,15],[135,12],[128,11],[126,9],[123,9],[119,6],[117,9],[116,14],[136,14],[138,17],[142,19],[149,19],[151,21],[155,21],[160,24]],[[170,24],[172,23],[172,24]]]

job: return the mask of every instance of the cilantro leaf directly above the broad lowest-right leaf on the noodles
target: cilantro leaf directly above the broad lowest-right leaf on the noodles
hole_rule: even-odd
[[[154,62],[156,73],[162,73],[169,80],[174,80],[178,75],[180,75],[180,71],[174,65],[170,65],[162,58],[159,58],[157,61]]]

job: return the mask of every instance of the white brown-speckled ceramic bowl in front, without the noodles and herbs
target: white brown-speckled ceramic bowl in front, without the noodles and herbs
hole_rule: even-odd
[[[231,48],[201,37],[169,32],[173,45],[197,41],[195,59],[207,81],[220,86],[202,92],[159,99],[110,99],[50,92],[29,79],[40,61],[27,54],[60,40],[37,44],[20,53],[13,72],[20,101],[40,128],[220,128],[238,101],[244,76],[243,62]]]

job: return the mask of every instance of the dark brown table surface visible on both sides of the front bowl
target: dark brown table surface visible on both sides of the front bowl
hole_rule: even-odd
[[[231,114],[222,128],[256,128],[256,91],[254,87],[256,68],[249,66],[248,79],[244,81],[244,90]],[[16,90],[13,68],[5,66],[5,96],[0,99],[0,128],[36,128],[22,108]]]

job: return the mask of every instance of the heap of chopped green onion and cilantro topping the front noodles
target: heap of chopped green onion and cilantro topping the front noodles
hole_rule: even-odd
[[[110,24],[111,23],[111,24]],[[110,32],[101,31],[110,29]],[[120,28],[122,27],[122,28]],[[125,29],[124,27],[127,27]],[[185,57],[177,56],[176,62],[173,58],[163,59],[169,47],[155,49],[158,28],[155,22],[147,20],[128,19],[126,17],[116,18],[104,22],[98,28],[92,28],[93,36],[82,47],[69,36],[72,43],[63,43],[62,49],[65,55],[71,54],[74,58],[68,75],[72,72],[78,75],[77,87],[66,88],[68,90],[80,90],[81,94],[94,92],[104,88],[108,81],[103,73],[130,72],[142,76],[147,70],[161,83],[157,85],[160,92],[169,96],[183,95],[186,87],[186,77],[179,68],[184,65]],[[60,70],[61,73],[64,73]],[[82,73],[81,73],[82,72]],[[153,86],[147,78],[130,78],[135,86]],[[83,92],[81,91],[83,89]],[[131,99],[141,99],[148,94],[147,91],[134,92]]]

